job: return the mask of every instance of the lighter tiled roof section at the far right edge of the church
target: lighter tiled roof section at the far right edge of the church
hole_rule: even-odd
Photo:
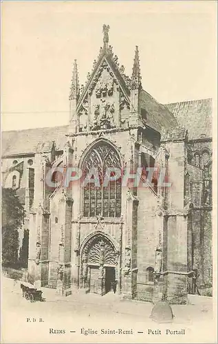
[[[189,140],[212,138],[212,99],[190,100],[164,105],[177,118],[182,127],[188,129]]]

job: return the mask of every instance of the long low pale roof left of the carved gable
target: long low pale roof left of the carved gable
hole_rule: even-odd
[[[67,133],[67,128],[68,126],[64,125],[61,127],[2,131],[1,154],[16,155],[35,153],[39,150],[50,151],[53,141],[56,143],[56,148],[62,150],[65,144],[63,137]]]

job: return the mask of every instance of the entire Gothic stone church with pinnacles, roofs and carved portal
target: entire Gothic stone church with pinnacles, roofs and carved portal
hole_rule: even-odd
[[[74,61],[69,125],[3,132],[3,186],[17,190],[30,230],[28,280],[65,296],[116,292],[131,299],[186,296],[212,283],[212,100],[162,105],[142,88],[138,47],[127,76],[109,45],[80,87]],[[69,186],[51,169],[166,171]],[[182,300],[182,301],[181,301]]]

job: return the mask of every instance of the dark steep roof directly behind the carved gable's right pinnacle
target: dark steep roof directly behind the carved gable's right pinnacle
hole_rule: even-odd
[[[177,126],[177,120],[164,105],[160,104],[149,93],[141,92],[142,119],[145,125],[161,132],[163,128],[170,129]]]

